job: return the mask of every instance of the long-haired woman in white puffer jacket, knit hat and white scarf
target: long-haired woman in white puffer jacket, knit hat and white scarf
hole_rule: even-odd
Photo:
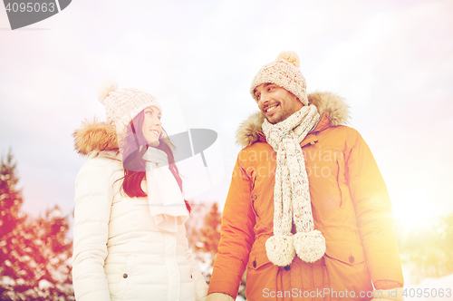
[[[188,251],[188,203],[147,92],[109,83],[107,123],[84,122],[87,157],[75,184],[72,282],[82,300],[201,300],[207,285]]]

